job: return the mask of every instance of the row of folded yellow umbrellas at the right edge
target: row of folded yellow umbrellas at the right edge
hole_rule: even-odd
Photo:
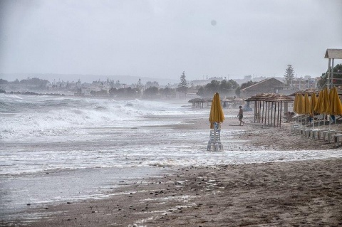
[[[304,95],[296,93],[294,112],[299,115],[342,115],[342,104],[336,87],[331,88],[330,91],[328,88],[324,88],[318,97],[316,97],[316,93],[311,93],[310,97],[308,93]]]

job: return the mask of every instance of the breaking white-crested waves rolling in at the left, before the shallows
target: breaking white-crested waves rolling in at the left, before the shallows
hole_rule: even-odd
[[[84,97],[1,95],[0,102],[4,103],[0,109],[1,139],[73,134],[74,129],[82,134],[80,128],[98,125],[136,127],[144,124],[144,116],[178,115],[184,110],[163,102]]]

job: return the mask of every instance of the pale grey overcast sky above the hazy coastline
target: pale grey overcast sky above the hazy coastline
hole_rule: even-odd
[[[326,49],[342,48],[341,9],[341,0],[0,0],[0,73],[234,79],[282,77],[291,64],[316,77]]]

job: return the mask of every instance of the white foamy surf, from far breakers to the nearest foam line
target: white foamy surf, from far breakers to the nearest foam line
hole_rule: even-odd
[[[222,130],[224,152],[207,152],[208,130],[138,128],[177,124],[208,111],[180,104],[44,96],[1,96],[0,174],[98,167],[180,167],[341,157],[329,151],[262,151]],[[17,102],[19,101],[19,102]],[[167,117],[151,117],[167,113]],[[249,146],[248,151],[241,147]]]

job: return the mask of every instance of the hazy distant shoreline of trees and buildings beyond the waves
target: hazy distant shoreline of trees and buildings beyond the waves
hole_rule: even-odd
[[[249,82],[249,83],[252,83]],[[243,84],[244,85],[244,84]],[[156,81],[147,81],[142,84],[139,79],[137,83],[127,85],[120,83],[120,80],[105,81],[94,80],[93,83],[81,83],[81,80],[50,82],[40,78],[26,78],[24,80],[14,80],[12,82],[0,79],[1,93],[16,94],[64,94],[77,96],[96,97],[118,97],[118,98],[186,98],[188,95],[198,95],[200,97],[211,97],[213,93],[228,95],[239,91],[239,84],[234,80],[212,80],[204,85],[193,85],[187,81],[185,71],[180,75],[180,83],[177,85],[161,86]],[[238,94],[238,93],[236,93]]]

